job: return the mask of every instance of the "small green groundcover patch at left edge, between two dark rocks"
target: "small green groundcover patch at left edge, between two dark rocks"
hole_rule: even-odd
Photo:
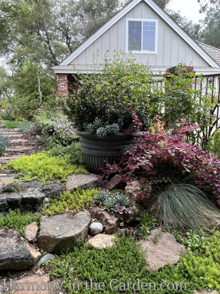
[[[36,215],[32,215],[31,213],[21,213],[20,209],[16,209],[15,211],[9,209],[9,213],[5,217],[0,215],[0,228],[15,228],[23,236],[26,226],[33,221],[36,221],[39,226],[41,214],[36,213]]]

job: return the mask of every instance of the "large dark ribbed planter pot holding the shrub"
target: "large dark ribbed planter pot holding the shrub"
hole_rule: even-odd
[[[126,133],[99,138],[96,134],[76,131],[80,136],[81,151],[88,171],[98,174],[97,168],[106,163],[117,162],[119,150],[134,143],[133,137]]]

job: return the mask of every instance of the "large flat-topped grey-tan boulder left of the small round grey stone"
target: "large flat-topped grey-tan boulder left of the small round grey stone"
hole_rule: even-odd
[[[90,213],[80,211],[71,217],[70,213],[45,217],[40,224],[37,243],[44,251],[60,254],[72,250],[86,239],[90,224]]]

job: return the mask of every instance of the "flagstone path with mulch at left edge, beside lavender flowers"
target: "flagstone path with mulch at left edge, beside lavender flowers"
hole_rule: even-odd
[[[37,140],[37,133],[31,130],[30,133],[19,132],[18,129],[1,129],[3,134],[9,135],[11,142],[5,150],[6,155],[0,156],[0,164],[5,164],[24,155],[30,155],[41,151]],[[1,185],[1,177],[0,177]]]

